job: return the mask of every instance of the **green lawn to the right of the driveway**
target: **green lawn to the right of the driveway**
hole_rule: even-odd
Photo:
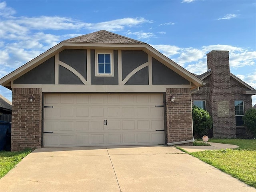
[[[209,142],[234,144],[239,148],[189,154],[256,188],[256,140],[209,139]]]

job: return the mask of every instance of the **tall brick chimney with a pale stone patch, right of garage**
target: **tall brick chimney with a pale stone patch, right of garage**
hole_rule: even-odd
[[[228,51],[211,51],[207,54],[210,75],[210,114],[215,138],[236,138],[234,97],[230,84]]]

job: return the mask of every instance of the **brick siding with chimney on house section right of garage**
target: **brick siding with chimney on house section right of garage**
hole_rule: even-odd
[[[235,100],[244,100],[245,111],[252,107],[251,95],[244,95],[243,89],[247,89],[230,76],[228,51],[212,51],[207,54],[210,76],[203,81],[206,85],[192,94],[194,100],[206,100],[206,110],[213,119],[213,136],[215,138],[241,138],[246,137],[244,127],[236,127]],[[217,102],[229,102],[229,115],[218,117]]]

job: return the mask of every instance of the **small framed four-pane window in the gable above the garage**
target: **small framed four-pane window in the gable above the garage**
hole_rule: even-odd
[[[98,52],[95,76],[114,76],[112,53]]]

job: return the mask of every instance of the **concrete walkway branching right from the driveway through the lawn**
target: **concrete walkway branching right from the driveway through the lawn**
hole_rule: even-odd
[[[207,142],[210,146],[185,146],[177,145],[177,147],[186,150],[187,152],[206,151],[206,150],[220,150],[220,149],[234,149],[238,148],[237,145],[223,144],[223,143],[212,143]]]

